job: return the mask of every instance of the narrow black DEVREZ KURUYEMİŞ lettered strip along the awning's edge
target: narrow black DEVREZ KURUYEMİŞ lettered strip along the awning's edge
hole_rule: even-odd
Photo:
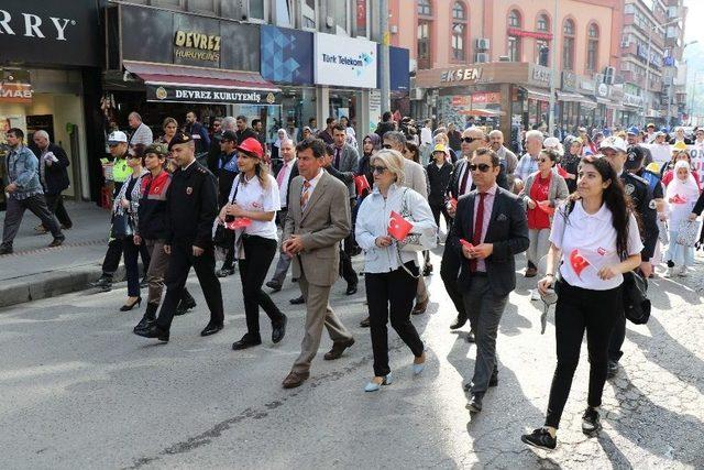
[[[211,105],[279,105],[278,94],[240,88],[200,88],[146,85],[147,101],[197,102]]]

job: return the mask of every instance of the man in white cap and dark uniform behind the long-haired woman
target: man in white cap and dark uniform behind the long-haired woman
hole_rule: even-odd
[[[642,223],[641,238],[644,249],[640,253],[641,262],[639,270],[644,277],[648,278],[652,273],[650,258],[652,258],[654,253],[659,232],[657,204],[653,200],[652,190],[650,189],[647,179],[625,171],[625,164],[628,160],[628,150],[626,147],[626,142],[624,142],[623,139],[617,136],[604,139],[600,145],[600,150],[602,154],[608,159],[616,173],[620,176],[624,189],[632,200],[634,210],[640,217]],[[625,339],[626,316],[622,313],[620,317],[616,321],[608,346],[609,378],[616,375],[616,372],[618,371],[618,360],[624,354],[620,347],[624,345]]]

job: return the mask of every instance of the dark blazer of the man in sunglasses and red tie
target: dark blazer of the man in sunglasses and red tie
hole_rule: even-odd
[[[462,254],[460,239],[471,241],[474,236],[474,200],[476,190],[458,201],[454,222],[448,236],[446,250],[452,250],[461,260],[458,286],[466,292],[472,285],[470,260]],[[486,258],[486,275],[492,292],[506,296],[516,288],[516,261],[514,256],[528,249],[528,220],[518,196],[503,188],[496,189],[492,217],[484,243],[493,243],[494,252]]]

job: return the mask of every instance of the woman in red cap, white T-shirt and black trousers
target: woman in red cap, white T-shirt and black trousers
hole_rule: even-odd
[[[280,209],[278,185],[263,162],[264,149],[253,138],[237,147],[240,173],[232,183],[228,203],[220,210],[222,222],[240,222],[235,229],[235,255],[242,280],[242,297],[248,332],[232,345],[246,349],[262,343],[260,306],[272,320],[272,341],[286,334],[286,316],[262,291],[277,247],[276,211]]]

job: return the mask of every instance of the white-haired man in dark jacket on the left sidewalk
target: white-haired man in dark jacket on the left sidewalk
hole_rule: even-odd
[[[58,219],[62,230],[68,230],[74,222],[72,222],[68,212],[66,212],[62,196],[62,193],[69,186],[68,171],[66,170],[69,165],[68,156],[66,156],[64,149],[50,142],[46,131],[34,132],[32,140],[34,141],[34,146],[31,150],[40,161],[40,183],[42,183],[42,188],[44,189],[46,206]],[[38,225],[34,230],[40,233],[46,233],[48,227]]]

